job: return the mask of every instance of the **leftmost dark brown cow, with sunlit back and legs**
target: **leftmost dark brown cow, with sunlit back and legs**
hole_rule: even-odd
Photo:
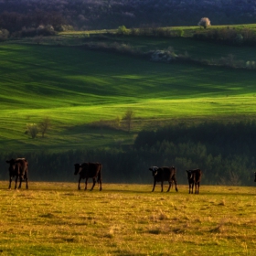
[[[9,164],[9,189],[11,189],[12,179],[16,177],[16,183],[19,178],[19,186],[21,188],[21,183],[23,180],[27,183],[27,166],[28,162],[26,158],[16,158],[11,160],[6,160],[6,163]],[[26,186],[28,188],[28,184]],[[16,189],[16,187],[15,187]]]

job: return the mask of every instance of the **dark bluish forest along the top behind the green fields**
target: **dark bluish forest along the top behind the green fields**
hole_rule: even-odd
[[[39,26],[61,31],[119,26],[197,26],[208,16],[212,25],[256,22],[250,0],[1,0],[0,29],[10,33]]]

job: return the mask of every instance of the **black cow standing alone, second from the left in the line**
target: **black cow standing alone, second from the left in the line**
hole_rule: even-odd
[[[87,182],[88,179],[91,177],[93,180],[93,185],[91,187],[91,190],[95,186],[96,183],[96,177],[98,184],[100,183],[100,191],[101,191],[101,168],[102,165],[99,163],[83,163],[83,164],[75,164],[75,173],[74,175],[80,175],[79,179],[79,189],[80,189],[80,181],[82,178],[85,178],[85,188],[87,189]]]

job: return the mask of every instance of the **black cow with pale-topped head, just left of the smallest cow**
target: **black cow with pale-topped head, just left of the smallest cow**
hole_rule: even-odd
[[[164,181],[169,182],[169,187],[166,192],[170,191],[170,188],[172,187],[173,182],[176,185],[176,168],[175,168],[175,166],[172,166],[172,167],[151,166],[149,168],[149,170],[152,172],[152,175],[154,176],[154,186],[153,186],[152,192],[154,192],[154,190],[155,190],[156,182],[161,182],[161,187],[162,187],[161,192],[163,192]],[[176,192],[177,191],[178,190],[176,187]]]

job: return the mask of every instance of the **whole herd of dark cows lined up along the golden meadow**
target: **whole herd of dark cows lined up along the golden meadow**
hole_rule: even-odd
[[[27,184],[27,172],[28,172],[28,162],[26,158],[16,158],[6,161],[7,164],[9,164],[9,189],[11,188],[12,179],[16,178],[16,184],[19,180],[19,186],[21,187],[22,181],[26,181],[26,188],[28,188]],[[75,173],[74,175],[80,175],[79,178],[79,186],[78,189],[80,189],[80,181],[81,179],[85,179],[85,188],[87,189],[87,182],[89,178],[92,178],[93,184],[91,187],[91,190],[96,184],[96,179],[98,184],[100,185],[100,190],[102,189],[101,184],[101,169],[102,165],[100,163],[83,163],[83,164],[75,164]],[[163,192],[164,189],[164,181],[168,181],[169,187],[166,192],[170,191],[170,188],[173,186],[173,183],[175,183],[176,186],[176,167],[157,167],[157,166],[151,166],[149,170],[152,172],[152,175],[154,177],[154,185],[152,192],[155,190],[156,182],[161,182],[161,187]],[[256,172],[254,182],[256,182]],[[189,185],[188,193],[193,194],[193,188],[195,186],[195,194],[199,194],[199,187],[200,187],[200,181],[202,177],[202,171],[200,169],[194,169],[194,170],[187,170],[187,180]],[[15,186],[16,188],[16,186]],[[176,192],[177,192],[176,187]]]

